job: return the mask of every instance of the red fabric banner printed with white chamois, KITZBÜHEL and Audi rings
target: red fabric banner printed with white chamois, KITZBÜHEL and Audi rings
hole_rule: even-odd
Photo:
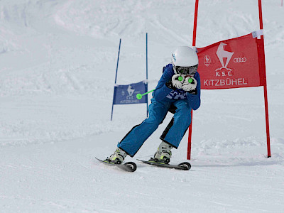
[[[259,31],[197,48],[201,89],[258,87],[261,64],[258,62]]]

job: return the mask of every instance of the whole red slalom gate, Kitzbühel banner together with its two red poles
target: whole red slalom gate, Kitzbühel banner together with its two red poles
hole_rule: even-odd
[[[199,0],[195,0],[192,47],[195,47],[196,43],[198,3]],[[260,30],[239,38],[219,41],[205,48],[197,48],[200,60],[198,72],[200,73],[201,89],[263,86],[267,156],[271,158],[261,0],[258,0],[258,15]],[[188,128],[187,160],[190,160],[191,155],[191,139],[192,123]]]

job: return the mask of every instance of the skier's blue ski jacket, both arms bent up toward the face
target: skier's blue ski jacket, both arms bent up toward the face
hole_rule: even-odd
[[[165,83],[172,80],[175,72],[173,71],[173,65],[170,63],[167,66],[163,67],[163,75],[160,77],[157,87],[153,92],[153,97],[157,102],[168,99],[170,100],[178,100],[178,99],[187,99],[190,107],[193,110],[196,110],[200,107],[200,75],[198,72],[193,76],[195,80],[197,80],[197,94],[190,94],[189,92],[185,92],[182,89],[170,89]]]

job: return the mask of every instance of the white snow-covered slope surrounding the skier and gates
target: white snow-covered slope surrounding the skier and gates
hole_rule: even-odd
[[[271,155],[263,88],[202,90],[190,171],[147,160],[172,115],[126,173],[98,163],[146,119],[114,106],[118,84],[149,89],[178,45],[192,44],[195,1],[0,1],[0,212],[284,212],[284,8],[263,0]],[[259,28],[257,0],[200,0],[197,47]],[[150,99],[150,96],[149,96]],[[187,133],[172,163],[186,160]]]

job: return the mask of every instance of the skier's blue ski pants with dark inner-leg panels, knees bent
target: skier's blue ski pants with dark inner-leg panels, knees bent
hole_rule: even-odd
[[[131,157],[137,153],[147,138],[162,124],[172,104],[176,107],[175,114],[160,139],[178,148],[188,126],[190,126],[191,107],[187,99],[164,99],[156,102],[153,98],[151,102],[148,118],[141,124],[133,126],[131,131],[117,145]]]

